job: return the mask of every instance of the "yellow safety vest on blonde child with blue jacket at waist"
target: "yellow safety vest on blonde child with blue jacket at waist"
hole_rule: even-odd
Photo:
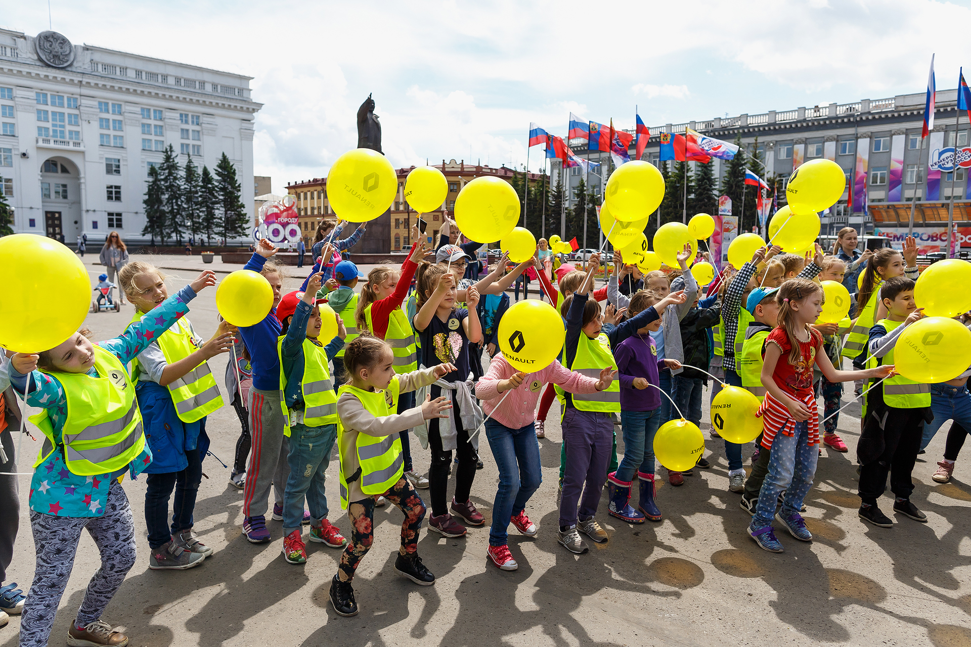
[[[145,316],[144,312],[136,311],[128,325],[141,321],[143,316]],[[185,319],[180,319],[176,324],[179,326],[178,333],[167,330],[155,338],[168,364],[175,364],[199,349]],[[134,359],[131,363],[132,372],[135,373],[138,360]],[[176,414],[183,422],[201,420],[222,406],[222,396],[219,395],[216,377],[210,370],[208,362],[203,362],[182,377],[169,382],[168,389],[172,395],[172,404],[176,406]]]

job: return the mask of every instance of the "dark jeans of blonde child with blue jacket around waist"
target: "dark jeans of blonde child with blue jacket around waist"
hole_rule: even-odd
[[[182,471],[146,474],[145,525],[149,530],[149,546],[158,548],[173,534],[192,528],[192,511],[202,481],[202,458],[198,449],[186,449],[188,466]],[[172,501],[172,527],[169,528],[169,497]]]

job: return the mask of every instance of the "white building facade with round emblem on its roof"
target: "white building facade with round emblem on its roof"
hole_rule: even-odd
[[[0,190],[14,230],[145,243],[149,169],[172,145],[215,172],[222,153],[253,209],[251,77],[0,29]]]

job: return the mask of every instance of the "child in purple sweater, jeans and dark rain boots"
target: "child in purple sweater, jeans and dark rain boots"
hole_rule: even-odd
[[[660,301],[660,295],[656,292],[642,290],[630,300],[627,316],[633,317]],[[651,521],[661,520],[661,511],[654,503],[653,446],[654,434],[661,422],[666,421],[661,420],[658,372],[665,368],[680,369],[681,363],[678,360],[658,359],[651,333],[656,333],[660,327],[661,319],[654,319],[614,348],[620,380],[620,427],[624,449],[623,460],[617,471],[607,476],[610,491],[608,512],[632,524],[643,524],[645,517]],[[637,509],[630,505],[634,472],[637,472],[641,485]]]

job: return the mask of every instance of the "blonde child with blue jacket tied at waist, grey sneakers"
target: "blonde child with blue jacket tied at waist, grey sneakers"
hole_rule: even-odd
[[[154,316],[169,297],[165,278],[143,261],[124,266],[118,272],[118,283],[135,307],[129,326],[144,316]],[[208,360],[232,347],[234,330],[223,321],[216,335],[203,343],[183,317],[153,337],[132,360],[138,407],[151,447],[151,465],[145,469],[145,523],[152,569],[198,566],[213,553],[192,532],[192,513],[202,481],[202,459],[209,450],[206,418],[222,406]]]

